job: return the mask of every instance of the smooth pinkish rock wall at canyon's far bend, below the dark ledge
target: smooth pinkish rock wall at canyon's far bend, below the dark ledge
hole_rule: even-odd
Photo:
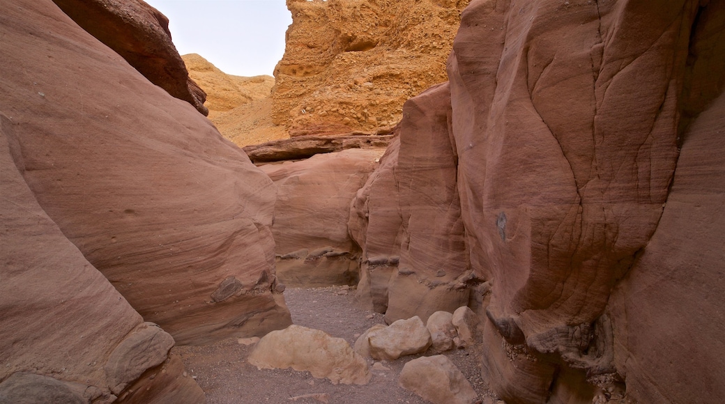
[[[357,284],[360,249],[347,231],[350,201],[382,153],[349,149],[260,167],[277,185],[272,233],[281,282],[294,287]]]

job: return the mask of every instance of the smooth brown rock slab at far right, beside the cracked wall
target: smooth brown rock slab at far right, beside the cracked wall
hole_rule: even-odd
[[[684,134],[662,219],[613,293],[616,369],[639,403],[725,396],[724,128],[721,95]]]

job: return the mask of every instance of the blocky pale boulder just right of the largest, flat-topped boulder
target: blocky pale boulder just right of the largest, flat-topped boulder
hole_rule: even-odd
[[[403,355],[425,352],[431,346],[431,333],[421,318],[398,320],[388,327],[368,333],[370,356],[377,361],[394,361]]]

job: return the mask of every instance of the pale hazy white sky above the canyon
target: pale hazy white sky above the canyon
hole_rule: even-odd
[[[179,54],[230,75],[272,75],[292,23],[285,0],[144,0],[169,18]]]

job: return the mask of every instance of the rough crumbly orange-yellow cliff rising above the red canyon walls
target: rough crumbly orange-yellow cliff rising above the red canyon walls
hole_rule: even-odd
[[[287,0],[273,121],[291,135],[390,127],[402,104],[446,79],[468,0]]]

